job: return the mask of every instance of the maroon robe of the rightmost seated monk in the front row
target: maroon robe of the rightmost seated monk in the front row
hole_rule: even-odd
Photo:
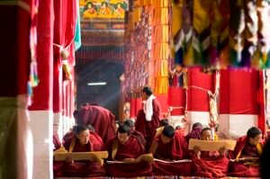
[[[262,148],[262,144],[259,144]],[[235,159],[237,157],[260,157],[261,151],[258,151],[257,146],[251,146],[247,141],[247,136],[242,136],[238,139],[234,151],[229,151],[229,157]],[[238,177],[258,177],[260,176],[259,166],[245,165],[243,161],[229,163],[229,176]]]

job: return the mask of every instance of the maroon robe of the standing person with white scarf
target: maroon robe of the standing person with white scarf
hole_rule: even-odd
[[[135,122],[135,130],[141,132],[147,140],[146,149],[151,145],[152,139],[154,139],[156,130],[159,127],[159,116],[161,115],[161,107],[156,98],[152,101],[153,115],[151,121],[146,121],[145,113],[143,110],[139,110],[137,119]]]

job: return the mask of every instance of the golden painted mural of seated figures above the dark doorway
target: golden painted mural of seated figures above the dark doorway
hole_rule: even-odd
[[[129,0],[79,0],[82,20],[123,19]]]

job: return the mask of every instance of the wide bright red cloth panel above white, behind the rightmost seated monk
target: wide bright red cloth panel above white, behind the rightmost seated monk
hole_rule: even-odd
[[[258,73],[255,69],[220,71],[220,114],[257,114]]]

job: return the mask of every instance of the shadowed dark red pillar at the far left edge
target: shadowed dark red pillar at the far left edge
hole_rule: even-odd
[[[30,71],[31,0],[0,1],[0,178],[30,178],[27,82]],[[3,140],[4,139],[4,140]]]

